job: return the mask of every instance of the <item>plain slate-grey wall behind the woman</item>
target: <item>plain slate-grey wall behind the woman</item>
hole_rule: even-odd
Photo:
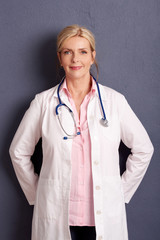
[[[1,0],[0,23],[0,239],[30,239],[33,208],[15,177],[8,148],[34,95],[58,82],[57,33],[78,23],[96,36],[99,82],[126,96],[155,147],[126,207],[130,240],[159,240],[160,1]],[[122,147],[121,155],[125,152]]]

